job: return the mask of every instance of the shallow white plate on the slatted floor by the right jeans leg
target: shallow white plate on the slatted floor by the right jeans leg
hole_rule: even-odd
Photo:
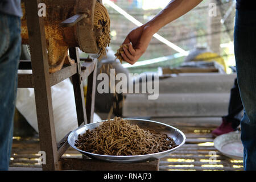
[[[243,160],[241,133],[234,131],[214,139],[214,147],[223,155],[232,159]]]

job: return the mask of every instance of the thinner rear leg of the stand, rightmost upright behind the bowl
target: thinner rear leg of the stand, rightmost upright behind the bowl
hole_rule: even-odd
[[[88,71],[86,69],[85,71]],[[93,72],[88,76],[87,93],[86,93],[86,116],[88,123],[93,123],[95,93],[96,93],[96,78],[97,77],[97,60],[94,59]]]

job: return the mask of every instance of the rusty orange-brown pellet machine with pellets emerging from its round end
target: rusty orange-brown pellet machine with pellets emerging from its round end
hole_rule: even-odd
[[[22,44],[28,44],[24,2],[22,10]],[[46,11],[42,15],[51,73],[59,71],[64,63],[74,63],[68,56],[70,47],[79,47],[83,52],[101,55],[105,53],[105,47],[109,46],[110,19],[101,1],[43,0],[38,11]]]

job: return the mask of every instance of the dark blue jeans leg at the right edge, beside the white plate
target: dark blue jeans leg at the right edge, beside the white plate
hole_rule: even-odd
[[[241,139],[245,170],[256,170],[256,11],[237,10],[234,51],[244,117]]]

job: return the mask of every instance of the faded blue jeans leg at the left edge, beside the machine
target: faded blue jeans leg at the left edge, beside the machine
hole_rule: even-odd
[[[20,18],[0,13],[0,170],[11,156],[20,43]]]

